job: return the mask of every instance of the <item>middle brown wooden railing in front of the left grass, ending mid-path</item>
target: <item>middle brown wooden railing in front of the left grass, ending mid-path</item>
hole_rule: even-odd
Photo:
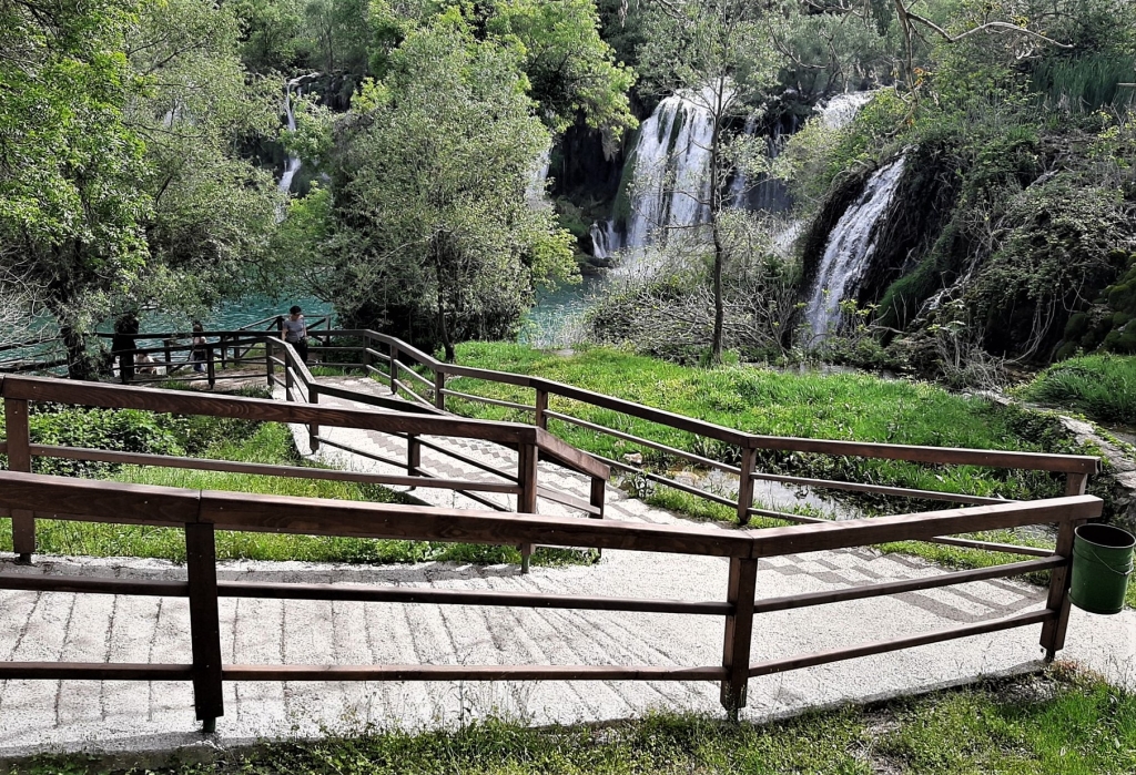
[[[298,385],[304,385],[308,386],[308,398],[312,403],[318,401],[318,388],[315,387],[315,381],[307,368],[296,357],[295,351],[286,343],[274,338],[267,339],[266,346],[268,360],[273,361],[275,359],[274,353],[283,354],[285,360],[281,361],[281,363],[285,364],[285,372],[294,374],[296,381],[289,388],[290,398],[294,397],[293,393]],[[269,378],[273,378],[272,372],[269,372]],[[34,457],[56,457],[195,469],[200,471],[224,471],[273,477],[442,488],[462,492],[473,499],[491,503],[494,508],[500,511],[511,511],[509,506],[502,506],[494,502],[485,502],[484,498],[477,495],[478,492],[503,494],[516,498],[516,511],[520,513],[536,513],[537,499],[544,498],[562,504],[570,511],[580,512],[592,519],[603,517],[604,483],[610,474],[608,466],[593,460],[586,453],[570,447],[546,431],[533,428],[532,426],[484,420],[456,420],[450,416],[432,416],[415,413],[381,413],[365,410],[281,403],[272,399],[217,396],[182,390],[152,390],[132,386],[102,385],[98,382],[40,377],[2,377],[0,378],[0,395],[3,397],[7,424],[7,439],[0,443],[0,453],[7,453],[8,467],[11,471],[31,472],[33,470]],[[318,445],[320,439],[324,439],[324,437],[319,436],[320,428],[375,430],[408,439],[406,463],[393,458],[378,457],[360,450],[361,454],[368,454],[369,457],[393,464],[398,467],[404,467],[408,475],[32,444],[28,427],[28,404],[34,402],[109,408],[135,408],[174,414],[198,414],[216,418],[239,418],[261,422],[304,424],[309,428],[314,446]],[[484,464],[481,465],[484,470],[496,474],[500,481],[446,479],[433,475],[421,465],[421,446],[429,445],[433,448],[444,450],[446,445],[427,441],[421,438],[424,436],[440,437],[443,441],[451,439],[478,439],[516,449],[518,450],[517,471],[512,473]],[[326,439],[324,440],[326,441]],[[542,487],[540,483],[540,471],[536,465],[540,458],[557,463],[590,478],[592,481],[591,500],[585,502],[567,492],[560,492],[554,488]],[[32,554],[35,551],[35,514],[17,511],[11,514],[11,519],[14,549],[23,562],[30,562]],[[546,541],[542,541],[542,544],[546,544]],[[527,572],[533,545],[523,545],[520,549],[523,571]]]

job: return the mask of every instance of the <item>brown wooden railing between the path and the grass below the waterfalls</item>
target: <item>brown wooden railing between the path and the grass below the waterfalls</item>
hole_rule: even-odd
[[[694,495],[711,503],[720,504],[735,511],[741,524],[746,524],[752,516],[768,516],[788,522],[818,523],[826,520],[820,517],[805,516],[785,511],[759,508],[754,506],[754,487],[759,481],[780,482],[790,486],[808,487],[817,490],[838,490],[860,494],[883,495],[889,497],[911,498],[916,500],[939,500],[958,504],[1000,504],[1011,503],[1004,498],[984,497],[962,492],[947,492],[938,490],[922,490],[904,487],[888,487],[884,485],[870,485],[862,482],[851,482],[834,479],[819,479],[809,477],[787,475],[778,472],[761,471],[758,461],[761,453],[767,452],[795,452],[824,454],[832,456],[867,457],[878,460],[905,461],[924,463],[930,465],[974,465],[993,469],[1011,469],[1027,471],[1045,471],[1066,478],[1064,491],[1067,495],[1078,495],[1085,491],[1086,478],[1096,473],[1099,469],[1097,458],[1091,455],[1059,455],[1027,452],[1002,452],[996,449],[960,449],[950,447],[921,447],[896,444],[877,444],[869,441],[841,441],[829,439],[809,439],[777,436],[762,436],[749,433],[718,426],[711,422],[698,420],[667,412],[663,410],[645,406],[630,401],[624,401],[612,396],[607,396],[591,390],[585,390],[563,382],[517,374],[511,372],[494,371],[490,369],[477,369],[470,367],[444,363],[424,353],[409,344],[370,330],[332,330],[328,337],[340,340],[340,346],[334,348],[335,353],[342,354],[351,352],[358,360],[350,361],[341,357],[335,363],[326,365],[337,365],[341,368],[354,368],[365,371],[376,378],[383,379],[390,385],[393,396],[406,398],[423,407],[423,411],[431,408],[445,411],[448,399],[460,398],[462,401],[482,403],[492,406],[502,406],[509,410],[531,413],[533,424],[538,428],[549,428],[550,420],[565,423],[565,428],[575,426],[596,433],[607,435],[624,443],[654,449],[665,455],[687,461],[696,467],[716,469],[727,474],[738,478],[736,497],[727,497],[707,489],[678,481],[644,466],[634,465],[626,461],[610,460],[601,455],[594,455],[598,460],[607,463],[613,470],[630,472],[645,480],[665,485],[667,487]],[[354,347],[343,346],[343,342],[351,338],[358,339],[360,344]],[[310,352],[319,354],[326,348],[311,347]],[[419,371],[425,372],[419,373]],[[533,403],[525,404],[518,402],[502,401],[478,396],[473,393],[459,391],[446,387],[449,380],[454,378],[467,378],[474,380],[485,380],[487,382],[504,384],[528,388],[533,390]],[[553,404],[554,401],[559,405]],[[553,406],[557,408],[553,408]],[[729,457],[737,460],[737,464],[724,462],[707,455],[700,455],[690,449],[680,449],[674,445],[663,444],[658,440],[636,436],[634,433],[600,424],[570,413],[568,407],[583,406],[602,408],[617,413],[628,419],[645,420],[666,429],[685,431],[695,438],[717,443],[719,446],[733,448]],[[577,412],[578,413],[578,412]],[[629,424],[629,423],[628,423]],[[703,445],[710,446],[710,445]],[[1045,549],[1034,547],[1021,547],[1014,545],[993,544],[966,538],[941,538],[937,542],[952,546],[962,546],[980,549],[992,549],[1009,551],[1022,555],[1043,556],[1047,554]]]

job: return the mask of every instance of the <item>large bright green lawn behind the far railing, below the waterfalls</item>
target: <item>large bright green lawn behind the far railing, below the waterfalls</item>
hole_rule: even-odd
[[[610,348],[591,348],[565,357],[520,345],[486,343],[459,346],[458,361],[462,365],[541,376],[753,433],[1083,452],[1074,448],[1052,419],[1035,412],[959,396],[934,385],[867,374],[797,374],[751,367],[705,370]],[[518,403],[533,402],[531,389],[498,382],[462,378],[453,380],[451,387]],[[531,413],[506,407],[468,401],[448,402],[448,406],[470,416],[532,422]],[[552,397],[550,408],[726,462],[736,462],[740,456],[727,445],[578,402]],[[561,421],[552,420],[550,429],[577,447],[608,457],[638,452],[655,469],[678,462]],[[1012,499],[1062,492],[1061,481],[1046,473],[968,465],[935,466],[772,450],[762,453],[758,464],[767,471]],[[876,498],[861,499],[860,505],[885,504]]]

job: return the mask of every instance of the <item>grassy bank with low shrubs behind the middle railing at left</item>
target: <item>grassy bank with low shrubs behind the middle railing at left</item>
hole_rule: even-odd
[[[147,412],[73,408],[50,411],[51,408],[48,407],[49,411],[40,412],[32,419],[32,436],[36,443],[190,454],[247,463],[309,465],[296,452],[289,428],[278,423],[215,418],[161,418]],[[42,473],[189,489],[371,503],[419,503],[412,497],[377,485],[320,479],[139,465],[116,466],[44,458],[36,461],[36,470]],[[42,554],[159,557],[177,562],[185,558],[184,533],[172,528],[39,520],[36,545]],[[11,521],[0,520],[0,550],[10,551],[11,546]],[[520,563],[520,553],[513,547],[232,531],[218,531],[217,557],[328,563]],[[554,564],[579,562],[580,557],[577,553],[541,549],[534,554],[533,559],[535,563]]]

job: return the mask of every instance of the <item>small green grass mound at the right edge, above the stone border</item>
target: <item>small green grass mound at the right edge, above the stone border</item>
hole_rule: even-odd
[[[1041,404],[1070,406],[1101,422],[1136,423],[1136,356],[1085,355],[1061,361],[1020,394]]]

